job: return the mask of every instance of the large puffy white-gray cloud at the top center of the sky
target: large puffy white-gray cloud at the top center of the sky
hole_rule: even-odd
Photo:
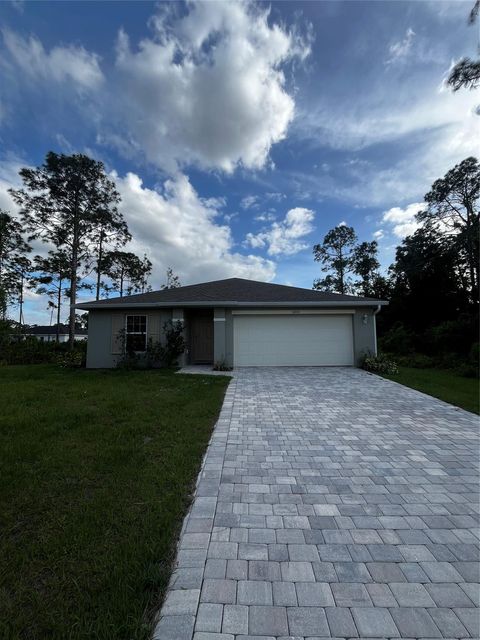
[[[121,144],[127,140],[131,152],[140,148],[167,171],[192,163],[226,172],[261,168],[294,115],[284,66],[307,56],[309,46],[252,3],[187,7],[182,16],[161,8],[151,21],[154,36],[138,47],[120,32],[115,130],[103,140],[115,144],[120,126]]]

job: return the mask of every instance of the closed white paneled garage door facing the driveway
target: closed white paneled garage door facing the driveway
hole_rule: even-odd
[[[351,315],[234,316],[237,367],[353,365]]]

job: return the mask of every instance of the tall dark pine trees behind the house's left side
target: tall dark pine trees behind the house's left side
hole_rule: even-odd
[[[79,292],[95,292],[99,300],[111,293],[147,291],[152,263],[146,255],[124,250],[132,236],[118,210],[120,194],[102,162],[51,151],[40,167],[23,168],[20,176],[23,187],[10,189],[19,215],[0,210],[0,319],[5,321],[14,305],[21,326],[30,289],[47,296],[58,327],[68,301],[73,346]],[[32,257],[39,241],[46,251]],[[169,269],[164,286],[179,285]]]

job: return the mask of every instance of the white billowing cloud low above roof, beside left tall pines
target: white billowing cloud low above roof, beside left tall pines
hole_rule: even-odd
[[[113,174],[122,197],[120,208],[134,240],[129,250],[153,262],[153,288],[172,267],[186,283],[238,276],[271,280],[275,264],[233,251],[230,227],[216,222],[212,200],[202,200],[185,175],[167,180],[163,192],[148,189],[134,173]]]

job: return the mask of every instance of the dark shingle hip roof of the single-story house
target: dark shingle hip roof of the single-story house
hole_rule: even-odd
[[[78,304],[80,309],[97,309],[117,306],[238,306],[246,305],[299,305],[305,303],[332,305],[339,303],[342,306],[351,304],[386,304],[382,300],[374,298],[361,298],[358,296],[342,295],[338,293],[325,293],[312,289],[301,289],[299,287],[288,287],[281,284],[270,284],[267,282],[257,282],[255,280],[245,280],[243,278],[228,278],[226,280],[214,280],[213,282],[202,282],[192,284],[177,289],[164,289],[160,291],[150,291],[139,293],[133,296],[123,296],[119,298],[109,298],[108,300],[98,300]]]

